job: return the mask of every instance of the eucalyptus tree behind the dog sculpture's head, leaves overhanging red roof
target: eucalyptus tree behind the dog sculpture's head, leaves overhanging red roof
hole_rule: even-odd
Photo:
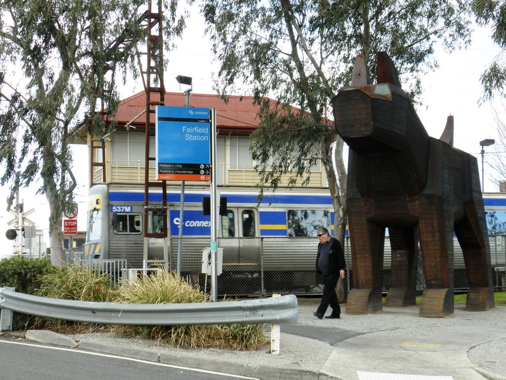
[[[375,53],[387,51],[416,99],[421,78],[437,67],[435,44],[451,51],[469,43],[471,33],[466,7],[451,0],[204,0],[202,13],[221,64],[217,90],[241,91],[237,83],[243,83],[262,104],[250,148],[260,197],[284,175],[291,175],[290,186],[307,184],[309,169],[321,162],[335,210],[334,236],[341,241],[346,167],[329,104],[349,85],[356,55],[373,68]]]

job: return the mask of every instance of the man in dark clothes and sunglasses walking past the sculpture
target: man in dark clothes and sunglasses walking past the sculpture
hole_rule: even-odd
[[[325,318],[341,318],[341,307],[338,296],[335,294],[335,286],[338,284],[339,276],[345,277],[345,255],[339,240],[333,238],[325,227],[318,229],[316,234],[320,243],[318,244],[318,255],[316,256],[316,271],[323,275],[323,296],[320,306],[313,315],[322,319],[328,306],[332,308],[332,314]]]

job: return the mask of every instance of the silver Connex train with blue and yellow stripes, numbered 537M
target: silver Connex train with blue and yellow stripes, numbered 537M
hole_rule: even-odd
[[[168,237],[147,239],[144,256],[143,202],[141,189],[95,185],[89,193],[87,241],[84,249],[92,259],[126,260],[129,268],[144,268],[150,262],[163,262],[176,270],[178,256],[183,275],[205,282],[202,251],[210,243],[210,216],[204,215],[202,199],[208,188],[192,188],[185,193],[182,236],[180,226],[180,189],[167,191]],[[220,196],[227,207],[219,217],[218,247],[223,248],[223,273],[220,294],[319,293],[321,279],[315,273],[319,226],[332,230],[333,208],[327,189],[293,189],[267,195],[258,203],[257,193],[241,188],[224,188]],[[500,282],[505,267],[506,196],[483,195],[490,234],[494,283]],[[161,205],[161,193],[150,194],[150,204]],[[163,215],[149,211],[148,232],[162,232]],[[164,246],[167,250],[164,254]],[[351,249],[344,244],[348,268]],[[384,289],[390,285],[390,241],[384,248]],[[424,288],[419,263],[418,288]],[[454,240],[455,289],[468,286],[458,241]],[[349,288],[353,274],[349,271]]]

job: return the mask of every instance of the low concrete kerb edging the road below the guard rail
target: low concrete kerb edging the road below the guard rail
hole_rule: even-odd
[[[39,343],[51,344],[61,347],[80,348],[82,350],[123,356],[133,359],[172,364],[181,367],[198,368],[207,371],[223,372],[224,364],[221,361],[208,358],[198,358],[184,354],[160,353],[149,349],[136,349],[107,345],[88,340],[74,340],[66,335],[49,330],[27,330],[26,339]],[[257,377],[269,380],[343,380],[339,377],[329,376],[322,372],[307,369],[278,368],[266,365],[253,365],[240,362],[226,363],[228,373],[241,376]]]

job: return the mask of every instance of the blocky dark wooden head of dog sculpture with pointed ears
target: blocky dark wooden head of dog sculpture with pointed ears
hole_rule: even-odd
[[[332,99],[335,130],[348,146],[357,153],[403,151],[413,126],[420,129],[415,134],[427,139],[385,52],[377,53],[378,83],[369,84],[367,77],[364,57],[358,55],[351,86],[342,88]]]

